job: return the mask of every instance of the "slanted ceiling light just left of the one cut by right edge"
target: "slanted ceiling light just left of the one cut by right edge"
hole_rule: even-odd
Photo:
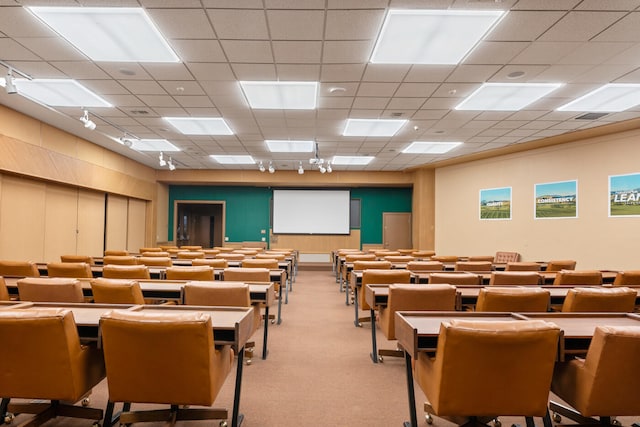
[[[485,83],[456,110],[518,111],[560,86],[562,83]]]

